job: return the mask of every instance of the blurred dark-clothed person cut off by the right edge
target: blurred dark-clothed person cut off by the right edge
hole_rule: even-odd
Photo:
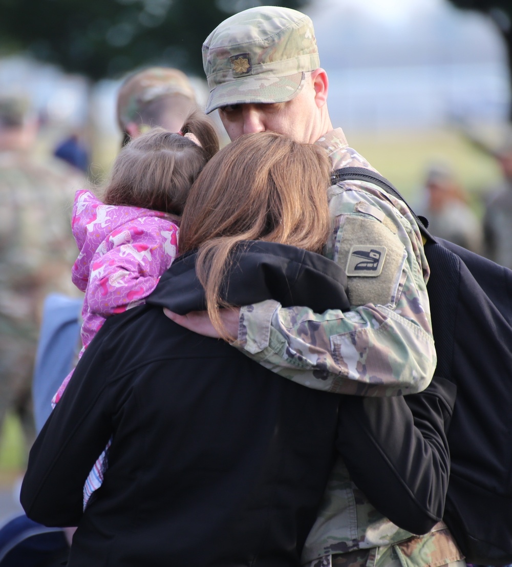
[[[494,153],[503,180],[490,189],[484,215],[485,255],[512,268],[512,134]]]

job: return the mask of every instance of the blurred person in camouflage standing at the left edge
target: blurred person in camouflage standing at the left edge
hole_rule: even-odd
[[[37,129],[28,100],[0,98],[0,426],[14,409],[28,446],[41,310],[51,291],[75,294],[70,213],[86,183],[61,160],[36,158]]]

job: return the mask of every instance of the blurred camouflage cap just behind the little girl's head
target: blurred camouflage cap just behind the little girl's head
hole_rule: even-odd
[[[137,122],[142,108],[167,95],[184,95],[196,101],[196,93],[185,73],[171,67],[149,67],[130,75],[117,95],[117,121],[121,130]]]

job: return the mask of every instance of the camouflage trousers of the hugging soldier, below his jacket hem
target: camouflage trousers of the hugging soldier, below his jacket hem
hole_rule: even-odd
[[[443,522],[435,538],[412,537],[400,543],[326,555],[303,567],[466,567],[464,556]]]

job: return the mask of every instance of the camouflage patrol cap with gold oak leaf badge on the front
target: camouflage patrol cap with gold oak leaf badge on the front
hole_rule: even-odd
[[[320,66],[311,19],[297,10],[260,6],[224,20],[202,46],[210,87],[208,114],[228,104],[291,100],[304,72]]]

